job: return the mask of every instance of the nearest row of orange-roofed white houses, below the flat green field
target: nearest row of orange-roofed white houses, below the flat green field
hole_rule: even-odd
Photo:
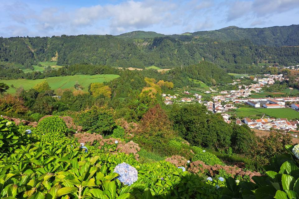
[[[283,131],[295,131],[297,125],[299,125],[298,120],[288,121],[287,118],[264,118],[253,120],[250,118],[244,118],[243,122],[248,125],[249,128],[269,131],[271,128],[283,130]],[[236,120],[236,124],[240,124],[240,119]]]

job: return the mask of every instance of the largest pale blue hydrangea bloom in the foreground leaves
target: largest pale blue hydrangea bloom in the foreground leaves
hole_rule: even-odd
[[[129,186],[135,183],[138,179],[137,170],[130,164],[126,164],[124,162],[115,167],[114,173],[118,174],[117,179],[119,179],[119,181]]]

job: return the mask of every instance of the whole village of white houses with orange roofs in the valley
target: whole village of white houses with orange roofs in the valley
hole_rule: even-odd
[[[273,98],[249,98],[252,93],[259,93],[264,86],[270,86],[275,81],[287,80],[280,75],[265,74],[263,78],[254,77],[256,83],[252,83],[248,86],[240,84],[240,80],[235,80],[233,85],[238,84],[238,90],[221,90],[216,91],[211,88],[204,93],[219,93],[221,95],[214,95],[212,100],[202,100],[202,95],[197,93],[191,94],[188,91],[183,91],[183,95],[192,95],[192,97],[179,98],[178,95],[166,95],[162,94],[165,98],[165,104],[173,104],[173,100],[177,103],[201,103],[207,107],[208,111],[213,113],[221,113],[226,123],[231,123],[231,115],[226,112],[230,112],[233,109],[238,109],[237,104],[247,104],[254,108],[260,109],[282,109],[288,106],[291,109],[299,111],[299,97],[273,97]],[[292,88],[289,88],[292,89]],[[287,105],[288,103],[289,105]],[[298,103],[298,104],[296,104]],[[299,114],[299,113],[298,113]],[[269,131],[270,129],[277,129],[282,131],[298,132],[299,122],[297,120],[292,121],[287,118],[235,118],[235,124],[248,125],[249,128]],[[297,126],[298,125],[298,126]]]

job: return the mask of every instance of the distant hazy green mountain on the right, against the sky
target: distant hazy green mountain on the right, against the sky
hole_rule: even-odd
[[[299,25],[273,26],[268,28],[239,28],[229,26],[220,30],[198,31],[192,36],[220,39],[222,41],[249,39],[256,45],[298,46]]]

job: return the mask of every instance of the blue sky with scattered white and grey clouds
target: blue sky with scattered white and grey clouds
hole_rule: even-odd
[[[165,35],[299,24],[299,0],[0,0],[0,36]]]

